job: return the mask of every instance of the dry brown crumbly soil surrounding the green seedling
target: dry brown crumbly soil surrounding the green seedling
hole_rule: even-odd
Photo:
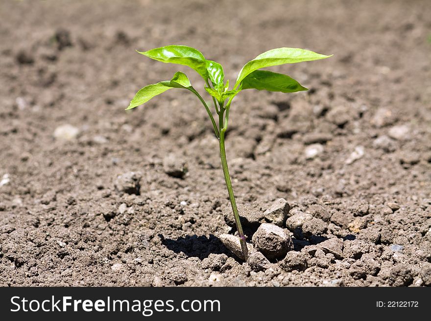
[[[430,285],[429,1],[179,3],[1,1],[0,285]],[[124,111],[178,70],[202,92],[134,51],[173,43],[231,81],[271,48],[335,54],[271,68],[310,90],[242,92],[226,141],[237,203],[285,198],[323,235],[259,269],[223,246],[204,108],[175,89]]]

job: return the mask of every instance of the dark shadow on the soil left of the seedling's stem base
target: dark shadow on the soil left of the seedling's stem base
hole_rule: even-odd
[[[175,253],[184,253],[187,257],[198,257],[202,260],[211,253],[232,256],[232,253],[226,249],[220,239],[213,234],[210,234],[209,237],[207,235],[188,235],[177,239],[165,238],[161,234],[158,236],[162,240],[162,244],[169,250]]]

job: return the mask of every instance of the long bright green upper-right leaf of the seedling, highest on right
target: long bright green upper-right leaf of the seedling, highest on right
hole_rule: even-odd
[[[331,55],[332,56],[332,55]],[[276,66],[279,64],[295,64],[303,61],[312,61],[329,58],[331,56],[325,56],[315,53],[310,50],[299,49],[299,48],[276,48],[271,49],[263,54],[260,54],[255,59],[245,64],[239,71],[237,83],[234,88],[237,88],[241,81],[251,72],[261,69],[264,67]]]

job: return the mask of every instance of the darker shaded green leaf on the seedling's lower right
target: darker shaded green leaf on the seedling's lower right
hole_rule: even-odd
[[[255,70],[248,74],[243,80],[241,89],[258,89],[281,92],[296,92],[307,90],[296,80],[287,75],[268,70]]]

